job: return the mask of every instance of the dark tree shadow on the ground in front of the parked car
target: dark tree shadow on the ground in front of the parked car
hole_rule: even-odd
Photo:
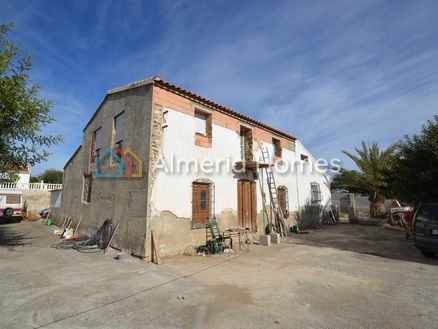
[[[292,235],[285,240],[283,241],[286,243],[335,248],[388,259],[438,265],[438,257],[424,257],[414,246],[412,239],[406,239],[404,232],[380,226],[323,225],[320,229],[309,231],[309,234]]]

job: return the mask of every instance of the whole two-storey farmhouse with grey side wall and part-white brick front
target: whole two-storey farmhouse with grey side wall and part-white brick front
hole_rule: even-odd
[[[82,217],[85,233],[111,218],[113,244],[141,257],[151,231],[161,255],[179,254],[206,243],[213,218],[265,234],[266,168],[287,226],[305,205],[329,204],[327,174],[294,136],[154,77],[107,93],[64,167],[54,215]]]

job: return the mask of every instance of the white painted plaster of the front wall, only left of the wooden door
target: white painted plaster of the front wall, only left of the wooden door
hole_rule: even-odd
[[[168,128],[164,132],[162,154],[166,163],[175,159],[230,158],[230,163],[240,160],[240,137],[236,132],[213,125],[212,147],[195,145],[195,119],[192,116],[170,110],[167,114]],[[176,165],[175,165],[176,167]],[[225,166],[224,166],[225,167]],[[158,170],[152,190],[152,204],[157,210],[169,210],[178,217],[192,216],[192,182],[197,178],[208,178],[215,184],[216,213],[226,208],[236,209],[237,183],[232,174],[166,173]]]

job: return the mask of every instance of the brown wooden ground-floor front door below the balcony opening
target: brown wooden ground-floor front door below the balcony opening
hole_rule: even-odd
[[[254,182],[237,181],[237,217],[238,225],[257,231],[256,224],[256,185]]]

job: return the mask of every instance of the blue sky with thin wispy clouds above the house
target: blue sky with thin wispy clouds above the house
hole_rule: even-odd
[[[438,114],[437,1],[5,1],[54,100],[62,168],[107,90],[152,75],[297,136],[387,146]]]

